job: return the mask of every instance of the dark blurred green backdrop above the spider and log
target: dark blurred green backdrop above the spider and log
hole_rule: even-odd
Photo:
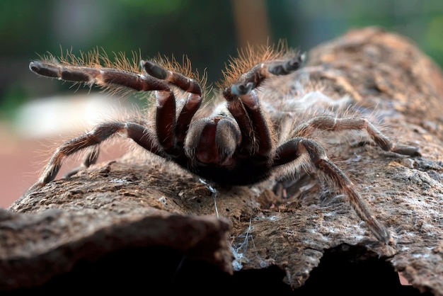
[[[38,54],[59,55],[60,47],[188,55],[212,83],[246,42],[285,38],[308,51],[367,25],[407,36],[443,64],[442,0],[2,0],[0,120],[12,120],[18,106],[35,98],[73,93],[69,84],[28,69]]]

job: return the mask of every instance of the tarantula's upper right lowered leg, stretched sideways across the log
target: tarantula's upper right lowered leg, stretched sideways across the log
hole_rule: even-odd
[[[300,125],[296,130],[296,135],[301,137],[309,137],[314,130],[366,130],[369,137],[385,151],[396,152],[409,156],[420,156],[418,147],[394,144],[388,137],[383,135],[372,123],[366,118],[335,118],[332,116],[318,116],[308,120]]]

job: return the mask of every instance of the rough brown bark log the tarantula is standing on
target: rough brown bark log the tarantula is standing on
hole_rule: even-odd
[[[306,67],[282,83],[309,74],[331,98],[347,95],[363,113],[375,112],[396,142],[420,147],[419,157],[352,142],[330,152],[395,244],[376,241],[343,195],[324,200],[332,194],[315,173],[297,178],[284,202],[272,191],[274,181],[215,187],[217,219],[214,194],[197,178],[156,157],[140,161],[127,154],[1,210],[0,290],[93,283],[103,291],[120,280],[126,289],[183,291],[199,290],[205,281],[226,291],[234,283],[246,291],[277,290],[281,283],[280,292],[301,294],[310,280],[318,287],[330,283],[327,277],[342,277],[336,284],[351,289],[362,276],[346,278],[351,263],[377,275],[400,271],[420,292],[443,295],[442,72],[412,42],[377,28],[351,30],[308,57]],[[132,273],[137,264],[142,271]],[[322,266],[323,278],[317,276]],[[361,288],[377,286],[374,280],[381,287],[384,279]]]

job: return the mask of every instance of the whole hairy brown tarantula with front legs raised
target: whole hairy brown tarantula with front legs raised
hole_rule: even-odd
[[[27,194],[54,180],[62,161],[71,154],[87,149],[83,166],[94,164],[100,143],[118,133],[152,154],[220,185],[249,185],[275,173],[281,176],[316,169],[328,183],[347,195],[372,234],[389,243],[392,239],[388,229],[376,220],[357,186],[328,159],[325,149],[310,135],[316,130],[362,130],[386,151],[415,156],[419,155],[418,149],[393,144],[367,119],[359,117],[314,115],[301,125],[285,128],[287,125],[279,120],[288,116],[282,116],[278,108],[288,109],[289,103],[284,96],[272,96],[272,90],[260,97],[260,86],[297,71],[303,59],[304,55],[280,45],[240,52],[240,57],[231,59],[224,81],[219,84],[224,100],[208,116],[197,113],[203,89],[188,60],[184,60],[184,66],[174,59],[142,60],[139,63],[142,71],[137,62],[131,63],[124,55],[110,62],[98,51],[81,57],[68,53],[59,60],[50,56],[30,62],[31,71],[50,78],[96,84],[105,89],[154,91],[156,106],[154,123],[140,119],[106,121],[62,144]],[[187,98],[178,99],[177,91],[187,93]],[[292,116],[289,120],[294,120]]]

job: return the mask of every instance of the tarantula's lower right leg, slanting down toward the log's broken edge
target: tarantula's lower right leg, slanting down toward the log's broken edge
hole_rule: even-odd
[[[306,154],[309,155],[309,160],[316,169],[324,173],[326,178],[332,181],[334,186],[348,196],[350,205],[354,208],[355,212],[357,212],[360,219],[366,222],[367,227],[376,239],[386,244],[393,241],[388,229],[376,220],[367,202],[358,191],[355,190],[355,184],[350,181],[350,178],[348,178],[338,166],[328,159],[325,150],[318,142],[304,137],[296,137],[289,140],[277,148],[275,161],[272,166],[275,168],[292,161],[297,161],[297,159],[302,158]]]

